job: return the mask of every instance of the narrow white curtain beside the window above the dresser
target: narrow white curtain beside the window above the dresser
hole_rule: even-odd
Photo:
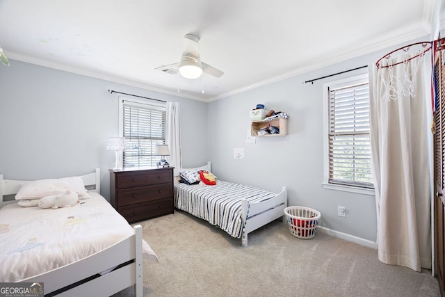
[[[166,143],[170,150],[170,156],[167,157],[167,160],[171,167],[182,168],[179,103],[167,102],[165,116],[167,118]]]

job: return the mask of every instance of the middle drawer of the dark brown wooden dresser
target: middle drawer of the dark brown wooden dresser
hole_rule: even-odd
[[[118,207],[168,197],[173,197],[173,188],[170,183],[123,188],[118,190]]]

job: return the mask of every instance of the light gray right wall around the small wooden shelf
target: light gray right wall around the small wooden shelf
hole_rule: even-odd
[[[428,38],[424,38],[428,40]],[[367,68],[303,83],[375,63],[392,49],[353,58],[337,65],[271,83],[209,104],[209,156],[219,179],[279,191],[286,186],[289,205],[321,211],[321,225],[375,241],[375,198],[323,188],[323,83],[367,73]],[[257,138],[246,143],[249,112],[257,104],[289,113],[288,135]],[[244,147],[244,159],[234,159],[234,148]],[[337,207],[346,207],[346,218]]]

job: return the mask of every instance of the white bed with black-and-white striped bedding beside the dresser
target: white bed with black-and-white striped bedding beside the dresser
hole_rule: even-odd
[[[179,180],[180,173],[188,170],[211,172],[211,163],[198,168],[175,168],[174,175]],[[285,186],[280,193],[274,193],[218,179],[214,186],[176,183],[175,207],[207,220],[235,238],[241,237],[242,245],[248,246],[250,232],[282,218],[287,193]]]

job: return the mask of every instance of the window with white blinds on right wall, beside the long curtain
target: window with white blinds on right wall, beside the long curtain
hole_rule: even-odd
[[[368,75],[326,83],[324,184],[366,193],[371,170]]]

